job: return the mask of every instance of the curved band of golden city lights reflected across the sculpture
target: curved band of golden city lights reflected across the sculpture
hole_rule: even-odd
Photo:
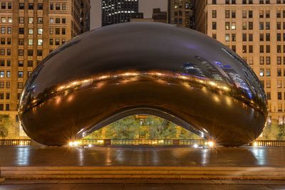
[[[208,65],[208,64],[207,64]],[[212,68],[213,69],[213,68]],[[212,71],[216,72],[216,71]],[[155,77],[155,78],[152,78]],[[103,75],[96,75],[88,79],[83,80],[75,80],[71,81],[66,84],[59,85],[56,89],[51,89],[46,92],[44,95],[45,98],[52,98],[57,97],[56,99],[56,105],[60,105],[62,100],[59,95],[68,95],[69,93],[72,93],[74,90],[78,90],[79,88],[85,88],[89,85],[94,86],[94,90],[98,90],[100,88],[103,88],[108,81],[116,79],[115,84],[117,85],[124,85],[125,83],[134,82],[135,80],[138,80],[138,78],[152,78],[152,80],[156,80],[158,83],[167,83],[172,84],[175,83],[175,80],[183,81],[183,85],[188,88],[192,89],[192,85],[190,84],[197,84],[202,85],[202,90],[206,93],[207,88],[216,89],[219,92],[222,93],[232,93],[232,88],[230,88],[226,83],[224,83],[224,80],[211,80],[207,78],[197,78],[196,76],[189,75],[185,73],[172,73],[170,71],[165,72],[156,72],[156,71],[149,71],[149,72],[138,72],[138,71],[129,71],[129,72],[123,72],[123,73],[113,73],[113,74],[103,74]],[[170,82],[173,81],[173,82]],[[109,83],[109,82],[108,82]],[[232,95],[235,95],[238,93],[232,93]],[[39,97],[33,97],[33,99],[30,99],[31,107],[34,105],[38,105],[38,103],[43,102],[42,95],[38,95]],[[22,98],[23,100],[25,97]],[[71,102],[73,100],[72,96],[68,96],[67,101]],[[219,102],[218,97],[214,97],[214,100],[216,102]],[[229,102],[229,101],[227,101]],[[22,105],[22,104],[21,104]],[[254,102],[252,103],[254,105]],[[23,107],[20,107],[20,112],[22,111]]]

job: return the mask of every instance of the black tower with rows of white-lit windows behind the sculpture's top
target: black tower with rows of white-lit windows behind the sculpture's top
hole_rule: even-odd
[[[138,0],[102,0],[102,26],[129,22],[137,13]]]

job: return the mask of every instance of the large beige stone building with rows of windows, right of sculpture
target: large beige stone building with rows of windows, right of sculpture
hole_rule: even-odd
[[[285,1],[199,0],[196,28],[236,51],[257,74],[271,121],[285,124]]]

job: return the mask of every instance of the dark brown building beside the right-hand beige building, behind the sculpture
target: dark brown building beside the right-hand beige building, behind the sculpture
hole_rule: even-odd
[[[168,23],[194,28],[194,5],[195,0],[168,0]]]

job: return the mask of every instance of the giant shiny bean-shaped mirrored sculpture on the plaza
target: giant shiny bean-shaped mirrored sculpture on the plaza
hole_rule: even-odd
[[[120,23],[53,51],[28,78],[19,103],[24,131],[46,145],[136,114],[239,146],[261,134],[266,96],[254,71],[222,43],[163,23]]]

